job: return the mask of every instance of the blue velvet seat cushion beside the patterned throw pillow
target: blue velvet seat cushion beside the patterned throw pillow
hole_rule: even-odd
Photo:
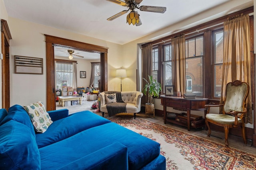
[[[63,119],[54,121],[44,133],[36,134],[36,143],[38,148],[56,143],[76,133],[110,123],[111,121],[92,113],[91,111],[81,111],[69,115]]]

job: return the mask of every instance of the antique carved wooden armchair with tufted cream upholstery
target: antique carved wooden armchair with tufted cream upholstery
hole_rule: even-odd
[[[246,98],[249,92],[249,85],[246,82],[236,80],[229,82],[226,86],[226,96],[223,104],[205,105],[208,109],[205,117],[205,123],[209,129],[208,137],[210,137],[211,129],[209,122],[224,127],[225,145],[228,147],[229,128],[240,126],[242,129],[242,137],[246,144],[244,116],[247,113]],[[222,107],[220,114],[212,114],[210,107]]]

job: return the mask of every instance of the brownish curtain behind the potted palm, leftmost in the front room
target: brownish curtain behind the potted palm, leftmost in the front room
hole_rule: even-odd
[[[148,75],[152,74],[152,44],[142,46],[142,78],[148,80]],[[142,79],[142,89],[146,82]],[[146,95],[142,96],[141,104],[144,105],[147,102]]]

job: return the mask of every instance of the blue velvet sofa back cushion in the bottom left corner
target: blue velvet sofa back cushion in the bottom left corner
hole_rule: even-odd
[[[30,129],[10,120],[0,126],[0,169],[39,170],[40,154]]]

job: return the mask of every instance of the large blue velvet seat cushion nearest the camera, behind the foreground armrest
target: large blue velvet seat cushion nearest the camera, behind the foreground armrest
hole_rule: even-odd
[[[54,169],[53,164],[47,164],[53,159],[58,164],[67,164],[114,142],[128,148],[128,166],[132,170],[141,169],[160,154],[159,143],[116,123],[106,123],[40,148],[42,169]]]

